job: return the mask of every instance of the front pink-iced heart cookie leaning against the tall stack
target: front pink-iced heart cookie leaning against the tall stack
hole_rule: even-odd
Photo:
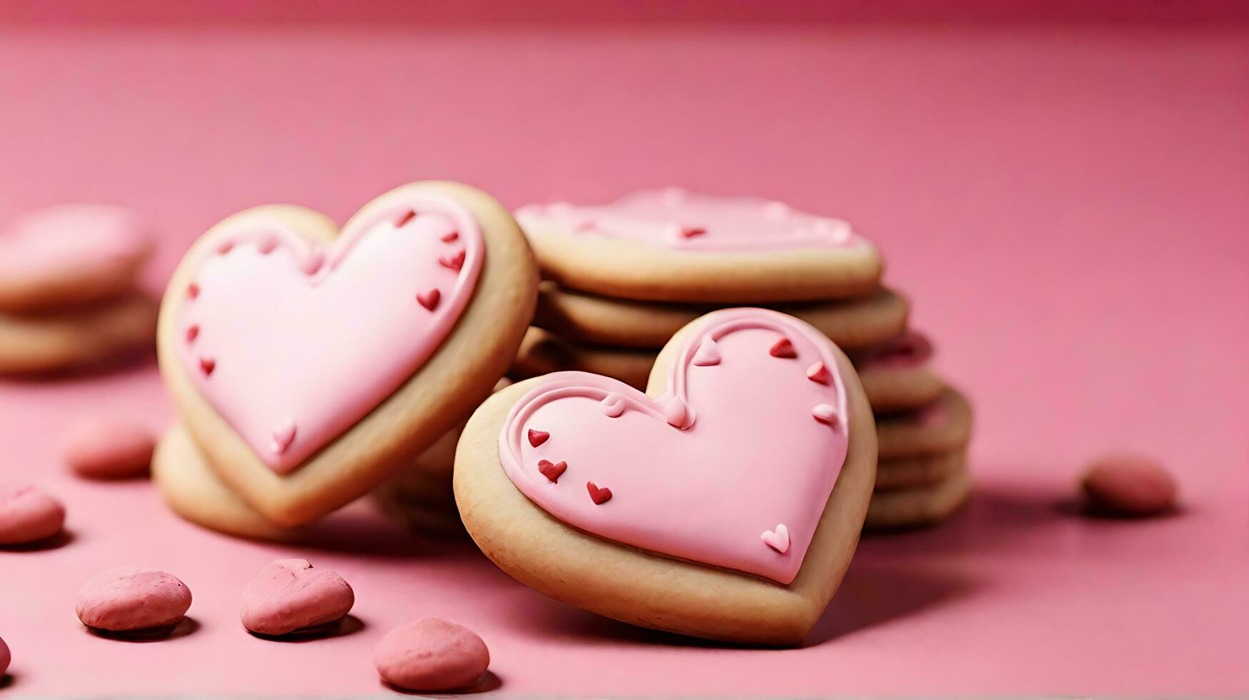
[[[858,543],[876,427],[822,333],[758,308],[681,329],[647,393],[582,372],[508,387],[470,419],[455,490],[500,568],[636,625],[799,643]]]

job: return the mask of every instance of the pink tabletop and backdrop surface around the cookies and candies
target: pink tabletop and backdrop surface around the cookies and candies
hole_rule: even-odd
[[[170,419],[155,369],[0,382],[0,474],[69,504],[71,538],[0,552],[17,694],[385,693],[373,644],[445,615],[513,694],[1245,694],[1249,629],[1249,34],[1217,26],[408,26],[0,30],[0,215],[129,203],[165,232],[150,283],[222,216],[346,217],[413,178],[510,205],[683,183],[849,218],[916,298],[978,411],[970,508],[863,542],[794,650],[703,645],[548,600],[467,542],[367,507],[309,547],[172,517],[146,483],[57,463],[76,416]],[[1060,504],[1135,448],[1184,512]],[[262,641],[237,596],[276,557],[355,586],[357,631]],[[196,625],[105,640],[74,593],[167,569]],[[2,691],[0,691],[2,694]]]

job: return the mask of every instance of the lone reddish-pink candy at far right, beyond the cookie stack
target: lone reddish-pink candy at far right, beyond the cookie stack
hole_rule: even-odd
[[[1118,515],[1157,515],[1175,504],[1175,479],[1162,464],[1139,454],[1093,460],[1082,485],[1094,507]]]

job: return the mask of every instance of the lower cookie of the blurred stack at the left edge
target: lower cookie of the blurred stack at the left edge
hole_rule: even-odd
[[[135,292],[96,304],[40,313],[0,313],[0,373],[86,368],[156,337],[156,302]]]

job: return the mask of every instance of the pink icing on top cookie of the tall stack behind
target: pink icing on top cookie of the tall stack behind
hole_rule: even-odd
[[[623,238],[682,251],[776,251],[871,246],[837,218],[758,197],[714,197],[679,187],[643,190],[602,206],[567,202],[516,210],[525,227]]]

